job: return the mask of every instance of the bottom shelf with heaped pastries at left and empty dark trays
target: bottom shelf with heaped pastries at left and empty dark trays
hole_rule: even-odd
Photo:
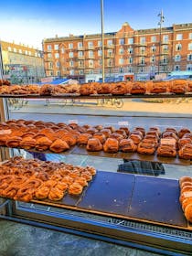
[[[191,230],[178,180],[103,172],[14,157],[0,165],[0,196],[165,227]],[[191,209],[191,203],[187,208]],[[186,217],[185,217],[186,216]]]

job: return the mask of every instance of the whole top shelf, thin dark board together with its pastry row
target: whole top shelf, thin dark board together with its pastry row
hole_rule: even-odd
[[[191,80],[90,82],[84,84],[0,85],[1,97],[23,98],[176,98],[192,97]]]

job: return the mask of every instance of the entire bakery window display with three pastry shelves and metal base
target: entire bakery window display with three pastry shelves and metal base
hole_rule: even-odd
[[[1,219],[57,229],[164,254],[192,251],[192,123],[179,129],[156,123],[88,123],[10,120],[7,98],[173,99],[191,98],[192,83],[89,83],[51,87],[1,87]],[[76,117],[78,120],[79,117]],[[109,117],[110,118],[110,117]],[[123,120],[123,119],[121,119]],[[186,124],[186,123],[185,123]],[[117,172],[15,155],[87,155],[123,159]],[[18,151],[19,152],[19,151]],[[46,160],[46,161],[45,161]],[[168,172],[165,165],[173,165]],[[133,171],[140,166],[140,173]],[[107,169],[107,166],[106,166]],[[185,176],[183,175],[185,174]]]

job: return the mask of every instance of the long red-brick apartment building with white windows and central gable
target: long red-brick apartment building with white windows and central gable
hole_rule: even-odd
[[[83,78],[102,71],[101,34],[46,38],[47,76]],[[192,70],[192,23],[133,30],[128,23],[104,34],[105,77],[134,74],[153,79],[172,70]]]

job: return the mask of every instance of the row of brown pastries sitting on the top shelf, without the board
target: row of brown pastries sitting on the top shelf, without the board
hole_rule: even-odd
[[[0,94],[39,94],[42,96],[74,94],[90,96],[95,94],[185,94],[192,92],[191,80],[147,80],[147,81],[118,81],[118,82],[89,82],[84,84],[44,84],[11,85],[7,80],[0,80]]]

